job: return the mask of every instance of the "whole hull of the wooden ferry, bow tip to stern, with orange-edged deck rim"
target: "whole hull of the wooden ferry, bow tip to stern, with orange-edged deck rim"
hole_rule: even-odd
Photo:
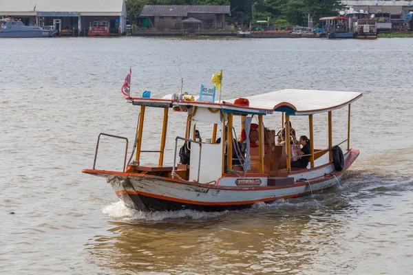
[[[121,173],[105,170],[83,170],[105,177],[118,198],[128,208],[145,211],[202,210],[222,211],[251,207],[254,203],[271,203],[320,192],[339,184],[339,179],[357,159],[359,151],[350,150],[344,155],[344,169],[334,170],[332,163],[317,168],[298,170],[288,177],[264,177],[250,175],[237,177],[224,175],[213,184],[197,184],[191,181],[170,179],[155,175]],[[282,183],[277,179],[290,179]],[[237,186],[237,180],[260,182],[258,186]],[[273,184],[271,184],[273,182]]]

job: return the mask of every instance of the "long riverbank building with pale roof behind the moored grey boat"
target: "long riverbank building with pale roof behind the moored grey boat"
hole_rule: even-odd
[[[125,0],[0,0],[0,16],[25,25],[53,25],[85,35],[94,21],[107,20],[111,34],[125,32]]]

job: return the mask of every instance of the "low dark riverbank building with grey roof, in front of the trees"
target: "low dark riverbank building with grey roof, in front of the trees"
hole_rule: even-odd
[[[225,30],[229,5],[145,5],[142,28],[157,30]]]

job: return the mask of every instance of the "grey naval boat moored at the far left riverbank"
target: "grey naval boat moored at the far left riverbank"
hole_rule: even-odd
[[[51,37],[56,30],[45,30],[41,27],[26,26],[21,21],[6,21],[1,24],[1,37]]]

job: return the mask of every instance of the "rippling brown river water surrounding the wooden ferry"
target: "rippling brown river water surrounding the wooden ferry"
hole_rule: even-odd
[[[1,39],[0,274],[412,274],[412,63],[412,39]],[[178,92],[181,76],[197,94],[218,69],[222,98],[363,91],[351,136],[361,155],[340,186],[313,196],[233,212],[128,210],[81,169],[98,133],[133,143],[139,109],[120,93],[129,66],[134,95]],[[149,150],[161,117],[147,112]],[[167,162],[184,120],[170,115]],[[292,120],[308,135],[306,118]],[[315,144],[326,122],[315,115]],[[333,123],[339,143],[346,109]],[[103,139],[96,168],[120,170],[123,146]]]

